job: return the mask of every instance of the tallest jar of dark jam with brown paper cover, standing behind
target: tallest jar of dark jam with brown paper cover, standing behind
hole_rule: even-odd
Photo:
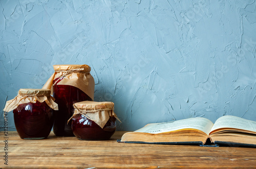
[[[53,65],[55,70],[44,89],[53,87],[53,97],[59,109],[54,110],[53,132],[57,136],[74,136],[71,129],[73,104],[84,100],[93,100],[94,79],[88,65]]]

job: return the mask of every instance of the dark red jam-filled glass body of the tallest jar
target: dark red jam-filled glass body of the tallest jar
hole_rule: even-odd
[[[57,80],[58,82],[60,81],[59,78],[56,78],[53,80],[53,84]],[[92,101],[92,99],[76,87],[70,85],[57,85],[57,83],[53,86],[54,102],[58,104],[58,110],[53,110],[55,115],[53,132],[57,136],[74,136],[71,128],[71,121],[67,124],[74,112],[73,104],[86,100]]]

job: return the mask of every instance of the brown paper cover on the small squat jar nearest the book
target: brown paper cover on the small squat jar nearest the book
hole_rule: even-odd
[[[76,114],[84,115],[98,124],[101,128],[104,127],[110,117],[115,117],[119,122],[121,122],[114,112],[113,102],[82,101],[75,103],[74,108],[75,111],[73,116]]]

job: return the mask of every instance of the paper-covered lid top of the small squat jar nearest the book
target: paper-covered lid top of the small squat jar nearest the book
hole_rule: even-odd
[[[96,102],[96,101],[81,101],[74,104],[74,107],[77,107],[82,110],[107,110],[114,109],[114,103],[110,101],[105,102]]]

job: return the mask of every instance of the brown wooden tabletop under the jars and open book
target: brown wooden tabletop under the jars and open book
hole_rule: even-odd
[[[53,133],[47,139],[24,140],[9,131],[8,168],[256,167],[255,148],[117,143],[124,132],[117,131],[111,140],[81,141]],[[0,167],[7,166],[3,140]]]

